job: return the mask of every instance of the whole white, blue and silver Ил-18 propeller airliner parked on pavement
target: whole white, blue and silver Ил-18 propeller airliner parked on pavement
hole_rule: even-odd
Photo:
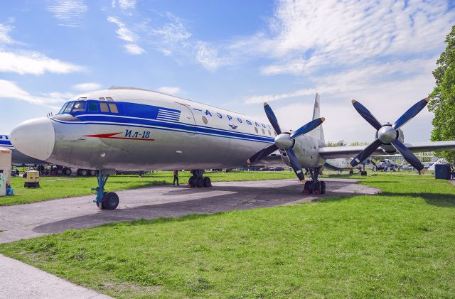
[[[55,116],[31,119],[11,131],[11,143],[22,153],[48,163],[97,170],[95,202],[114,210],[119,197],[105,192],[114,170],[191,170],[192,187],[210,187],[208,168],[245,167],[280,153],[304,183],[303,192],[324,193],[319,170],[327,159],[355,156],[355,166],[373,153],[400,152],[414,167],[422,163],[411,151],[454,149],[455,141],[403,143],[400,129],[427,104],[423,99],[395,124],[380,124],[359,102],[355,109],[376,129],[370,146],[327,147],[316,94],[313,119],[295,131],[279,126],[269,104],[269,123],[225,109],[134,87],[87,92],[65,103]],[[380,148],[380,149],[378,149]],[[311,172],[305,180],[302,168]]]

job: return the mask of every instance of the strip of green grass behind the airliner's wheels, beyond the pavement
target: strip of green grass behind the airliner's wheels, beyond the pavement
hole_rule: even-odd
[[[294,173],[289,171],[234,171],[230,173],[217,172],[206,173],[213,182],[232,180],[275,180],[280,178],[295,178]],[[179,178],[182,184],[188,183],[191,173],[180,172]],[[172,184],[171,171],[156,171],[151,175],[112,175],[107,181],[107,191],[128,190],[138,187],[153,185]],[[55,198],[75,197],[90,195],[92,187],[97,186],[95,177],[41,177],[39,188],[23,187],[23,178],[11,178],[11,186],[14,188],[14,196],[0,197],[1,205],[17,205],[30,202],[41,202]]]

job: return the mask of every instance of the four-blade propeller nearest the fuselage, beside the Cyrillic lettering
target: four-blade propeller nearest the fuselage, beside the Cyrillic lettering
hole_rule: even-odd
[[[316,129],[326,119],[324,119],[323,117],[321,117],[319,119],[314,119],[314,120],[310,121],[308,124],[301,126],[299,129],[292,132],[291,134],[288,134],[288,133],[282,133],[282,129],[280,128],[280,126],[278,124],[277,116],[275,116],[275,114],[273,113],[272,108],[270,108],[269,104],[264,103],[264,110],[265,110],[265,114],[267,115],[267,118],[270,121],[270,124],[272,124],[273,129],[277,132],[277,137],[275,137],[275,143],[272,146],[264,148],[262,151],[255,153],[255,155],[252,156],[250,159],[248,159],[247,162],[254,163],[256,161],[261,160],[264,157],[269,156],[274,151],[277,151],[277,149],[283,150],[286,152],[286,155],[289,158],[289,163],[291,164],[292,169],[294,169],[294,172],[296,173],[297,178],[299,178],[299,180],[303,181],[305,179],[304,173],[301,171],[301,165],[300,165],[299,159],[296,157],[296,154],[294,153],[294,150],[292,149],[292,147],[294,146],[294,139],[301,135],[308,133],[309,131]]]

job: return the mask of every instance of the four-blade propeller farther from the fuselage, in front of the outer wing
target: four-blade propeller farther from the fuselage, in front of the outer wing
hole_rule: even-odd
[[[353,158],[353,161],[350,161],[350,165],[352,167],[355,167],[361,161],[371,156],[371,154],[382,144],[392,144],[395,149],[402,154],[403,158],[405,158],[407,162],[414,166],[414,168],[419,171],[424,169],[424,165],[420,163],[419,159],[414,156],[414,154],[409,150],[409,148],[405,146],[405,144],[397,139],[397,130],[400,129],[400,127],[406,124],[408,121],[410,121],[420,111],[422,111],[422,109],[424,109],[424,107],[429,102],[429,97],[421,99],[419,102],[412,105],[412,107],[408,109],[407,112],[405,112],[399,119],[397,119],[397,121],[395,121],[395,124],[386,124],[385,126],[382,126],[378,119],[376,119],[375,116],[373,116],[373,114],[365,106],[363,106],[363,104],[355,101],[355,99],[353,99],[352,102],[355,110],[357,110],[360,116],[362,116],[365,121],[368,121],[368,123],[378,131],[378,138],[370,143],[370,145],[367,146],[363,151],[360,151],[360,153],[358,153],[358,155]]]

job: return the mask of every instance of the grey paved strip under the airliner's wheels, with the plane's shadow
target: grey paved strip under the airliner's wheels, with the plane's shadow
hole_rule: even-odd
[[[195,213],[247,210],[310,202],[331,195],[374,194],[377,189],[351,179],[325,179],[326,195],[302,195],[295,179],[219,182],[210,188],[146,187],[119,191],[117,210],[98,210],[94,196],[0,207],[0,243],[28,239],[65,229],[85,229],[135,219],[178,217]]]

